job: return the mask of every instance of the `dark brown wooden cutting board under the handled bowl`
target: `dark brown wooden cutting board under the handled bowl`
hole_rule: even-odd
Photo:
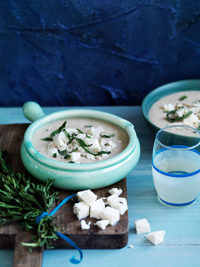
[[[14,171],[21,172],[23,164],[20,157],[20,147],[23,135],[29,124],[9,124],[0,125],[0,149],[6,149],[10,155],[10,164]],[[92,177],[91,177],[92,179]],[[121,188],[120,195],[127,199],[126,178],[121,181],[100,189],[92,190],[98,197],[108,197],[108,190],[111,188]],[[77,191],[68,191],[55,188],[59,191],[59,201],[54,203],[54,209],[64,198],[76,194]],[[127,245],[129,233],[128,211],[120,216],[120,221],[115,226],[107,226],[106,230],[101,230],[94,225],[97,219],[87,217],[88,223],[91,221],[89,230],[81,230],[81,223],[73,214],[74,203],[77,197],[69,200],[56,213],[55,225],[64,230],[64,234],[71,238],[82,249],[120,249]],[[49,212],[51,211],[49,210]],[[0,227],[0,248],[14,248],[13,266],[39,267],[42,266],[42,256],[44,248],[33,249],[33,252],[21,245],[21,242],[30,242],[31,231],[25,231],[20,224],[6,225]],[[53,242],[55,248],[71,248],[71,246],[61,238]]]

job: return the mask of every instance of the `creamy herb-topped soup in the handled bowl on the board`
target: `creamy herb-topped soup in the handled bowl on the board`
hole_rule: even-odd
[[[107,121],[69,118],[38,129],[32,136],[32,143],[41,155],[50,159],[94,163],[122,152],[129,143],[129,136]]]

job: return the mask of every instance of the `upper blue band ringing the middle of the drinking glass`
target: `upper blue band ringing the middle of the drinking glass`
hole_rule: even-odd
[[[168,148],[169,148],[169,149],[168,149]],[[168,148],[162,148],[161,150],[157,151],[157,152],[155,153],[155,155],[154,155],[154,158],[155,158],[155,156],[158,155],[159,153],[161,153],[161,152],[163,152],[163,151],[165,151],[165,150],[171,150],[171,148],[179,148],[179,150],[180,150],[181,148],[183,148],[183,149],[181,149],[181,150],[184,150],[184,149],[186,149],[186,148],[190,148],[190,147],[187,147],[187,146],[169,146]],[[187,149],[187,150],[188,150],[188,149]],[[195,149],[190,149],[190,151],[193,151],[193,152],[195,152],[195,153],[197,153],[197,154],[200,155],[200,152],[197,151],[197,150],[195,150]],[[161,171],[161,170],[159,170],[158,168],[155,167],[155,165],[153,164],[153,160],[154,160],[154,158],[152,157],[152,166],[154,167],[154,169],[155,169],[156,171],[158,171],[159,173],[164,174],[164,175],[166,175],[166,176],[171,176],[171,177],[188,177],[188,176],[192,176],[192,175],[198,174],[198,173],[200,172],[200,169],[197,170],[197,171],[193,171],[193,172],[187,173],[187,174],[171,174],[171,173],[168,173],[168,172],[164,172],[164,171]],[[161,200],[162,200],[162,199],[161,199]]]

